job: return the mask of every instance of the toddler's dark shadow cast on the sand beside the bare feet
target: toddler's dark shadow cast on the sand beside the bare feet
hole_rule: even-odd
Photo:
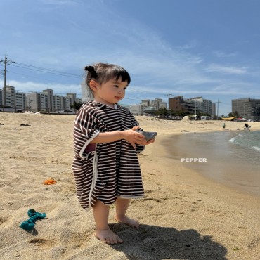
[[[178,231],[175,228],[149,225],[132,229],[119,223],[111,224],[110,228],[124,240],[123,244],[111,247],[124,252],[131,260],[226,259],[227,249],[223,245],[193,229]]]

